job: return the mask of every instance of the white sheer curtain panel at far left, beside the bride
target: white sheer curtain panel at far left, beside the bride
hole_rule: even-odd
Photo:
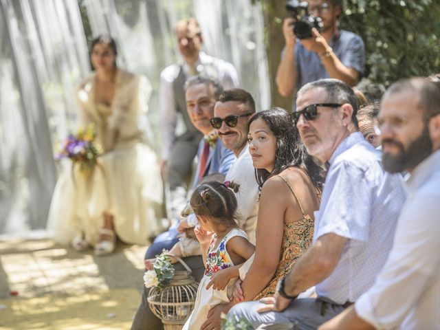
[[[0,234],[45,228],[53,146],[89,70],[76,0],[0,0]]]

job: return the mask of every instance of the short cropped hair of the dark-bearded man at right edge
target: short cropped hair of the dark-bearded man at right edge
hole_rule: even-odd
[[[384,98],[391,94],[398,94],[403,91],[414,91],[418,97],[417,107],[422,109],[426,118],[440,115],[440,91],[439,85],[432,81],[422,78],[405,78],[393,83],[385,92]]]

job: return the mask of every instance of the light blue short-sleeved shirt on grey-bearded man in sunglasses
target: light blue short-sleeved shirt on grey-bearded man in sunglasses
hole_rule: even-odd
[[[348,239],[333,273],[316,285],[318,296],[354,302],[369,289],[393,245],[406,192],[401,175],[386,173],[382,153],[352,133],[329,161],[314,242],[333,233]]]

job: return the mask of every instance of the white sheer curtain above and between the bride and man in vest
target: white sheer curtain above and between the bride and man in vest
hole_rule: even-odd
[[[84,5],[92,34],[110,34],[118,43],[118,65],[151,81],[153,129],[158,127],[159,74],[179,60],[174,23],[188,17],[199,21],[206,53],[235,65],[257,109],[270,106],[261,5],[251,0],[86,0]]]

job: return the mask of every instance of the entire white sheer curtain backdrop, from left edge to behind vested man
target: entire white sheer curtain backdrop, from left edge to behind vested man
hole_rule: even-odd
[[[270,105],[263,15],[251,0],[85,0],[94,36],[118,43],[118,65],[151,81],[157,129],[161,70],[179,59],[173,25],[196,17],[204,50],[232,62],[258,109]],[[78,0],[0,0],[0,234],[45,228],[56,142],[74,129],[74,90],[89,73]],[[148,126],[146,126],[148,127]],[[157,148],[157,146],[155,146]]]

